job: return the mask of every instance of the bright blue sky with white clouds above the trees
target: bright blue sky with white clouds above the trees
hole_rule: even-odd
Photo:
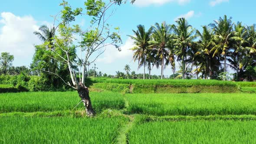
[[[33,57],[33,45],[41,42],[33,35],[33,31],[42,24],[51,25],[53,18],[61,7],[62,0],[5,0],[0,2],[0,52],[10,52],[14,55],[13,65],[30,65]],[[72,7],[83,7],[84,0],[69,0]],[[201,26],[212,23],[226,14],[233,17],[233,22],[242,21],[251,25],[256,23],[254,0],[136,0],[134,5],[126,3],[118,6],[115,15],[108,21],[121,29],[123,45],[122,52],[107,49],[105,54],[96,62],[103,73],[115,74],[124,71],[124,65],[131,65],[135,72],[137,62],[132,61],[131,39],[132,29],[138,24],[149,28],[154,23],[166,21],[175,24],[177,17],[186,17],[188,22],[201,30]],[[86,17],[80,17],[77,23],[89,23]],[[161,70],[154,69],[153,74],[160,75]],[[165,69],[165,75],[171,75],[171,68]]]

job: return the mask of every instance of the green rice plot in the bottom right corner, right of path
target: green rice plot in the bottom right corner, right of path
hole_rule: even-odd
[[[255,144],[256,121],[176,121],[135,125],[129,144]]]

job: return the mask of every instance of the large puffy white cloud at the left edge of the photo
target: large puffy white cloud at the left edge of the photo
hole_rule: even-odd
[[[9,12],[1,13],[0,17],[0,52],[14,55],[14,65],[29,65],[35,52],[33,44],[39,43],[33,34],[39,28],[36,20]]]

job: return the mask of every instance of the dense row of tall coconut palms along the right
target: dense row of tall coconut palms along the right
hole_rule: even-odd
[[[228,66],[236,71],[236,81],[252,81],[255,78],[256,27],[236,24],[226,15],[202,26],[200,32],[180,18],[176,24],[156,23],[149,30],[138,25],[130,36],[135,42],[134,60],[139,68],[148,66],[149,75],[152,66],[163,69],[171,65],[173,76],[176,62],[180,68],[176,78],[191,79],[229,79]],[[198,39],[198,41],[197,41]],[[175,77],[174,77],[175,78]]]

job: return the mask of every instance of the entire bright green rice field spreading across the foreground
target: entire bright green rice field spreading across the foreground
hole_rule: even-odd
[[[137,85],[161,83],[153,80],[95,81],[100,85],[121,84],[119,89],[131,82]],[[115,88],[112,91],[102,88],[99,92],[90,92],[96,111],[90,118],[85,115],[82,104],[75,108],[80,101],[77,92],[0,93],[0,144],[256,143],[253,83],[179,82],[164,80],[162,83],[201,88],[209,82],[206,84],[209,87],[223,85],[237,87],[240,91],[124,93]]]

